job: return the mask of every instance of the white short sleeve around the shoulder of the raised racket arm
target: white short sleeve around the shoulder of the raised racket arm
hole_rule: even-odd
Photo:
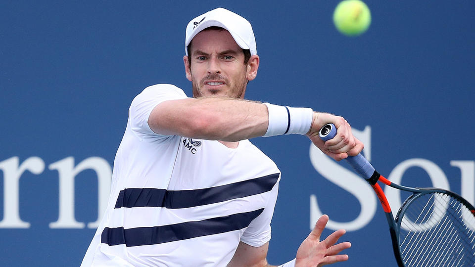
[[[129,122],[132,132],[141,139],[160,136],[148,126],[148,117],[153,108],[167,100],[184,98],[187,98],[185,92],[174,85],[159,84],[143,89],[132,100],[129,108]]]

